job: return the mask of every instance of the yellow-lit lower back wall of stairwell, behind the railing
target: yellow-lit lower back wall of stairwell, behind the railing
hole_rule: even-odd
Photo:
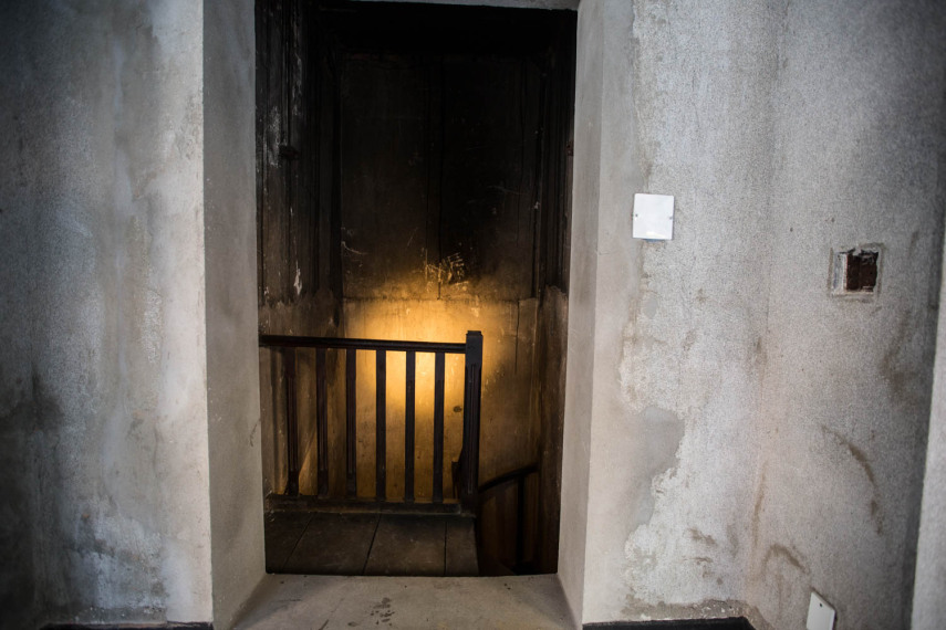
[[[495,475],[510,465],[534,461],[528,447],[531,340],[534,301],[481,302],[477,300],[364,300],[345,302],[344,336],[349,338],[461,343],[470,329],[484,334],[484,407],[480,470]],[[404,494],[405,353],[387,353],[386,453],[387,495]],[[314,356],[299,354],[300,382],[314,375]],[[329,351],[329,442],[332,494],[344,492],[344,353]],[[434,355],[416,355],[415,495],[432,495]],[[375,481],[375,356],[357,351],[357,476],[358,495],[374,496]],[[460,454],[462,440],[464,359],[446,355],[444,392],[444,495],[454,495],[450,463]],[[312,418],[314,395],[300,388],[299,418]],[[510,464],[509,462],[513,462]],[[300,491],[315,493],[315,435],[300,420]]]

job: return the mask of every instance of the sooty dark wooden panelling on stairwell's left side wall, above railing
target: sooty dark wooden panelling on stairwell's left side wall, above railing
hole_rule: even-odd
[[[312,6],[257,3],[257,187],[260,305],[320,286],[322,81]]]

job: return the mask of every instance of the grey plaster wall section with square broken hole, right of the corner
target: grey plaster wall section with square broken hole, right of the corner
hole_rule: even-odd
[[[776,628],[802,627],[810,589],[836,607],[839,630],[908,626],[939,291],[944,33],[942,4],[787,7],[749,569],[749,598]],[[830,296],[832,249],[863,243],[883,245],[880,293]]]

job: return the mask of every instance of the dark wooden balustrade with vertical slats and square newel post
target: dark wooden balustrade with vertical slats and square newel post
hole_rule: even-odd
[[[414,421],[416,401],[416,355],[434,355],[434,504],[444,503],[444,380],[445,355],[465,356],[464,426],[460,453],[459,498],[472,510],[476,505],[479,477],[479,421],[482,375],[482,334],[467,333],[466,343],[446,344],[430,342],[392,342],[381,339],[343,339],[331,337],[298,337],[288,335],[260,335],[260,347],[279,349],[282,354],[285,377],[287,460],[289,475],[285,494],[299,495],[299,419],[297,413],[295,354],[300,348],[315,349],[315,442],[316,487],[320,498],[329,496],[329,402],[326,350],[345,351],[345,497],[357,498],[357,350],[375,353],[375,501],[389,502],[387,485],[387,353],[406,354],[405,409],[404,409],[404,503],[414,503]],[[456,480],[455,480],[456,482]]]

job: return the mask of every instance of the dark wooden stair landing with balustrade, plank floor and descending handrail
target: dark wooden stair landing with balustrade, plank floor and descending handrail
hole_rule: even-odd
[[[267,497],[266,558],[269,573],[366,576],[477,576],[532,574],[527,546],[527,480],[538,475],[529,465],[484,484],[479,476],[480,379],[482,335],[471,330],[466,343],[393,342],[260,335],[260,346],[282,355],[285,401],[287,483]],[[297,413],[297,353],[315,351],[314,438],[316,494],[300,494],[300,443]],[[345,470],[344,494],[332,495],[329,456],[328,350],[344,351]],[[357,372],[355,353],[375,353],[375,474],[373,497],[358,493],[356,465]],[[387,354],[405,353],[404,492],[387,495]],[[415,471],[415,356],[435,356],[433,496],[417,500]],[[444,356],[465,356],[462,449],[444,479]],[[341,474],[339,471],[337,474]],[[337,479],[337,477],[336,477]],[[335,484],[336,486],[339,484]],[[445,493],[445,487],[453,492]],[[479,526],[486,502],[514,496],[510,515],[491,513],[490,528]],[[447,495],[445,497],[445,494]],[[451,498],[450,494],[454,497]],[[495,510],[495,508],[493,508]],[[488,542],[488,544],[485,544]]]

